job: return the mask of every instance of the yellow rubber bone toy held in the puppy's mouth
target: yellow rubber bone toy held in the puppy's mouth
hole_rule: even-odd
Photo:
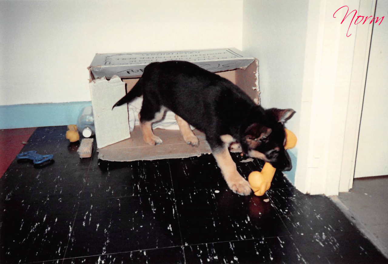
[[[296,135],[288,129],[286,131],[286,145],[284,149],[293,148],[296,145]],[[262,196],[271,187],[276,169],[266,162],[261,172],[253,171],[248,176],[248,182],[256,196]]]

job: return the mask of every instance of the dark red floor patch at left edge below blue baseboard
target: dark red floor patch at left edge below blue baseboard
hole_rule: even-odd
[[[35,129],[36,127],[0,130],[0,178],[20,153],[24,146],[23,142],[28,142]]]

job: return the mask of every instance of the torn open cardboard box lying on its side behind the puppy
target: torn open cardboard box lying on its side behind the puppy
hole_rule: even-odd
[[[138,126],[130,132],[128,108],[121,106],[112,110],[113,104],[139,80],[145,66],[155,61],[170,60],[190,61],[215,72],[260,103],[258,60],[234,48],[96,54],[88,69],[100,159],[156,160],[185,158],[211,152],[204,134],[198,130],[194,130],[194,134],[199,139],[199,147],[187,145],[180,131],[165,129],[154,129],[154,134],[163,140],[163,144],[150,146],[143,141]]]

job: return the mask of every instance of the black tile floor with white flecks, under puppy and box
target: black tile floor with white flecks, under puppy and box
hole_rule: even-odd
[[[388,263],[329,198],[303,195],[281,173],[266,195],[239,196],[211,155],[80,159],[65,133],[36,129],[22,151],[55,163],[15,160],[0,179],[2,264]],[[243,175],[263,165],[233,158]]]

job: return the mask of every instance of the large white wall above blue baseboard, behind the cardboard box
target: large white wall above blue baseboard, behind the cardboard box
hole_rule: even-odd
[[[222,47],[242,0],[0,1],[0,105],[90,101],[95,53]]]

